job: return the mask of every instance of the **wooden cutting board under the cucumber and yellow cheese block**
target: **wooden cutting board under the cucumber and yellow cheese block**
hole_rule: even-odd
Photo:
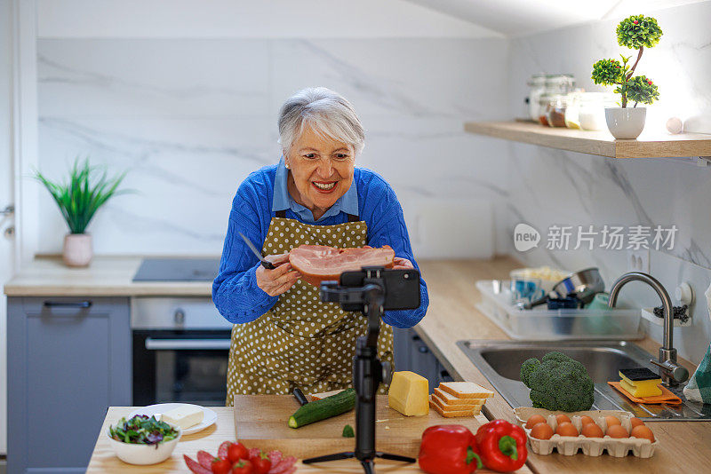
[[[378,396],[376,407],[376,449],[411,457],[417,457],[422,431],[429,426],[463,424],[476,432],[487,423],[483,415],[444,418],[433,409],[427,416],[405,416],[387,407],[387,395]],[[291,395],[236,395],[236,437],[244,446],[266,451],[278,449],[300,459],[354,450],[355,438],[343,438],[341,434],[346,424],[356,428],[355,409],[301,428],[290,428],[289,416],[298,408],[299,402]]]

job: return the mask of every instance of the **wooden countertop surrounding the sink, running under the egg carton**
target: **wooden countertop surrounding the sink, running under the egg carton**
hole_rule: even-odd
[[[423,278],[427,281],[430,304],[427,316],[415,327],[420,337],[433,349],[438,359],[455,380],[479,383],[495,389],[482,375],[467,355],[459,350],[456,341],[462,339],[507,340],[508,337],[491,320],[478,312],[474,305],[481,296],[475,289],[475,280],[506,279],[508,273],[521,264],[511,257],[497,257],[491,261],[431,261],[421,262]],[[651,339],[635,344],[656,354],[659,344]],[[686,360],[684,366],[695,368]],[[503,418],[515,422],[512,408],[500,396],[487,400],[483,413],[489,419]],[[711,458],[711,423],[708,422],[648,422],[659,439],[659,449],[649,459],[634,456],[614,458],[575,454],[547,456],[530,453],[527,465],[537,473],[548,472],[610,472],[610,473],[662,473],[708,472]]]

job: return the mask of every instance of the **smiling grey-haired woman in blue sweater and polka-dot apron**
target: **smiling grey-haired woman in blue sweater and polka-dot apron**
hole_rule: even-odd
[[[290,249],[387,244],[395,250],[395,268],[417,268],[392,188],[373,171],[355,168],[364,133],[348,100],[323,87],[299,91],[280,111],[279,134],[279,164],[254,171],[237,189],[212,284],[212,301],[235,323],[228,406],[236,394],[351,386],[356,337],[365,334],[367,320],[322,303],[318,288],[301,281],[289,264]],[[239,233],[261,244],[276,268],[261,266]],[[393,326],[411,328],[425,315],[423,280],[420,296],[415,310],[385,312],[380,359],[393,362]]]

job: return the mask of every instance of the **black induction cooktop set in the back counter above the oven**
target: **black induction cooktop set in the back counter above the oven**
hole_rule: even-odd
[[[144,258],[133,281],[212,281],[220,258]]]

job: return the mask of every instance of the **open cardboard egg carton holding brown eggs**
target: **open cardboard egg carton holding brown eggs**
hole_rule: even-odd
[[[579,449],[582,449],[583,454],[587,456],[599,456],[607,451],[613,457],[625,457],[632,451],[636,457],[648,458],[654,454],[654,450],[659,446],[659,441],[655,439],[652,443],[646,438],[611,438],[607,435],[604,438],[586,438],[579,436],[561,436],[554,434],[550,439],[531,438],[531,430],[526,429],[526,421],[532,415],[541,415],[546,418],[548,425],[553,428],[553,431],[558,427],[555,421],[555,415],[568,415],[571,418],[571,423],[580,432],[582,422],[580,417],[587,415],[591,417],[595,423],[602,428],[603,433],[607,432],[607,422],[605,416],[616,416],[619,423],[627,432],[632,431],[632,415],[622,410],[588,410],[581,412],[552,412],[543,408],[518,407],[514,409],[516,422],[521,425],[523,431],[526,431],[529,442],[531,443],[531,451],[535,454],[551,454],[554,448],[559,454],[571,456],[577,454]]]

